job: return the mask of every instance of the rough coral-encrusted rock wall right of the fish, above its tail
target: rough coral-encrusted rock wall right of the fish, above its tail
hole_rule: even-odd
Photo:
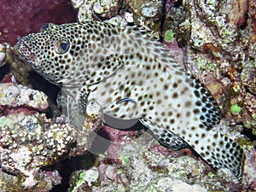
[[[174,25],[168,29],[176,33],[180,45],[186,45],[185,68],[212,91],[230,125],[241,122],[254,131],[254,6],[247,0],[189,0],[183,2],[183,8],[185,15],[175,12],[180,15],[175,22],[177,30]],[[166,9],[167,20],[173,10],[172,6]],[[241,111],[234,113],[234,106]]]

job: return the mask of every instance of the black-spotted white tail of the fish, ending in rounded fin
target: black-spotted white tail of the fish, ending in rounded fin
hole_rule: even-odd
[[[195,135],[201,137],[200,141],[190,141],[190,146],[215,170],[227,168],[241,179],[244,152],[239,144],[220,133],[203,129],[199,132]]]

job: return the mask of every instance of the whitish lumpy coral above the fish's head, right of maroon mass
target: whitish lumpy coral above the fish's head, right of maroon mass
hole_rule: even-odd
[[[143,29],[153,30],[155,37],[160,37],[161,1],[71,1],[79,9],[78,20],[118,20],[119,26],[135,23]],[[111,21],[110,21],[111,22]],[[116,23],[115,21],[114,23]]]

